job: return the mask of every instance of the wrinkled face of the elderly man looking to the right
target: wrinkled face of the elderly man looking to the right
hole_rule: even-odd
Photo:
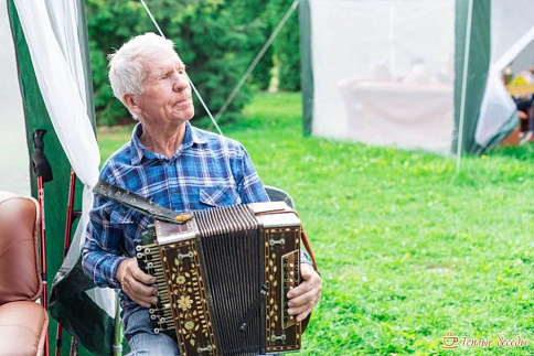
[[[143,93],[136,100],[141,122],[167,125],[190,120],[194,115],[191,86],[177,53],[153,53],[142,57],[141,63]]]

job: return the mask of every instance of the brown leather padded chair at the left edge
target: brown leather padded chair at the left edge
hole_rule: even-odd
[[[41,304],[38,202],[0,191],[0,355],[42,355],[49,316]]]

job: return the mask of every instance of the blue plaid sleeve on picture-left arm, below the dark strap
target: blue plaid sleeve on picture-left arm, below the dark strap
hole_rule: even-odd
[[[83,249],[82,266],[85,274],[98,287],[120,288],[116,273],[117,268],[127,257],[122,256],[122,229],[111,225],[113,203],[104,202],[95,194],[95,203],[89,212],[86,240]]]

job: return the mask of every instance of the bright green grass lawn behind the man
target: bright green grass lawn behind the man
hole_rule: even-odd
[[[534,144],[466,157],[302,136],[300,95],[222,127],[289,192],[323,278],[302,355],[534,355]],[[99,132],[103,158],[130,129]],[[460,338],[526,347],[441,349]]]

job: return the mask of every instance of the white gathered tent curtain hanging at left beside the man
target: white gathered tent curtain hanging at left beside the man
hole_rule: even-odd
[[[77,176],[89,188],[98,181],[98,144],[87,116],[85,79],[77,43],[75,2],[15,0],[33,68],[50,119]],[[50,11],[51,10],[51,11]],[[49,18],[61,12],[61,17]],[[67,15],[71,14],[71,15]],[[65,31],[56,37],[55,28]],[[67,30],[68,29],[68,30]],[[57,39],[62,40],[61,42]],[[63,48],[63,51],[62,51]],[[84,91],[82,94],[82,91]]]

